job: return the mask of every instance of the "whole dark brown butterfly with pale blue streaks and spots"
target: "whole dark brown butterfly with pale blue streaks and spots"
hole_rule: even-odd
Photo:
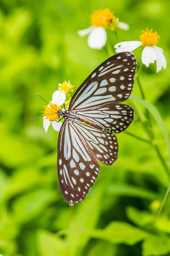
[[[113,55],[97,67],[74,93],[59,131],[59,186],[70,205],[85,199],[99,175],[99,162],[111,166],[118,156],[113,133],[125,131],[134,111],[129,98],[136,72],[131,52]],[[97,161],[98,160],[98,161]]]

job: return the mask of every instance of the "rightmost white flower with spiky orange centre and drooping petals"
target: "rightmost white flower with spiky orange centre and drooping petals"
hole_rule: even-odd
[[[156,32],[146,29],[142,31],[140,36],[141,41],[125,41],[115,45],[116,52],[131,52],[134,49],[142,46],[142,63],[149,67],[149,64],[156,61],[156,73],[161,71],[162,67],[165,69],[167,67],[167,61],[164,57],[164,51],[160,47],[157,47],[156,44],[159,39],[159,35]]]

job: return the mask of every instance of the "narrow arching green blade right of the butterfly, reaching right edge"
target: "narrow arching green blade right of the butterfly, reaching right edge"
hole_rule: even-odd
[[[168,131],[167,131],[167,128],[164,124],[164,121],[162,120],[157,108],[153,104],[148,102],[147,100],[141,99],[139,96],[137,96],[135,94],[132,94],[130,99],[137,100],[145,108],[147,108],[147,110],[153,115],[157,124],[159,125],[159,128],[161,129],[162,133],[164,134],[164,139],[165,139],[165,142],[167,144],[167,148],[168,148],[169,153],[170,153],[170,138],[169,138],[169,135],[168,135]]]

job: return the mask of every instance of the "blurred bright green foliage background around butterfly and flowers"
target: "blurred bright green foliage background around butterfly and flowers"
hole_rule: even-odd
[[[169,185],[154,148],[125,132],[117,135],[119,157],[100,165],[87,198],[69,207],[57,180],[57,138],[39,116],[57,84],[75,88],[109,57],[79,38],[89,16],[110,8],[130,25],[120,41],[139,40],[153,28],[160,35],[167,69],[143,68],[141,82],[170,132],[169,0],[0,0],[0,254],[3,256],[170,255],[170,197],[156,216]],[[117,38],[108,32],[110,44]],[[140,62],[141,52],[134,51]],[[135,82],[133,93],[140,96]],[[135,119],[128,132],[147,139],[144,107],[132,98]],[[139,119],[139,116],[142,116]],[[155,143],[170,166],[164,127],[152,117]]]

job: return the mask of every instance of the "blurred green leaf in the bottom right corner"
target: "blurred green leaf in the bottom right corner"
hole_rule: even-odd
[[[149,236],[142,244],[142,256],[159,256],[170,252],[170,238]]]

